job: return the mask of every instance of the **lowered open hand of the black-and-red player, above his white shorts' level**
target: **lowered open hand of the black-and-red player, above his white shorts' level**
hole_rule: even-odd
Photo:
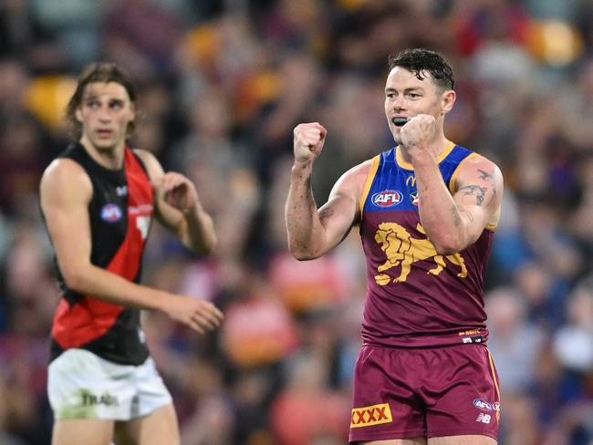
[[[223,313],[212,303],[192,296],[172,295],[165,302],[164,312],[179,323],[204,334],[220,326]]]

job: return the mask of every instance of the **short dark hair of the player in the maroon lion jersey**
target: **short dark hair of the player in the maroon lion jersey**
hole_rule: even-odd
[[[442,89],[453,89],[455,77],[453,68],[436,51],[424,48],[404,49],[396,56],[390,56],[389,69],[402,67],[410,71],[416,78],[423,80],[430,73],[434,82]]]

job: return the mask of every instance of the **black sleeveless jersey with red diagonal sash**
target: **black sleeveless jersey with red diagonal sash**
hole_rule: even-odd
[[[78,162],[92,182],[88,203],[91,264],[139,283],[154,202],[144,165],[129,148],[123,168],[117,171],[99,165],[80,144],[59,157]],[[78,347],[124,365],[143,363],[149,352],[140,329],[140,310],[74,292],[57,269],[63,298],[54,316],[50,359]]]

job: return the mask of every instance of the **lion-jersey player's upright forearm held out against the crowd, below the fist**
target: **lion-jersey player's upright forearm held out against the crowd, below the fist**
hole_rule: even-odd
[[[288,250],[299,260],[323,254],[323,226],[311,190],[312,164],[295,165],[286,199],[285,219]]]

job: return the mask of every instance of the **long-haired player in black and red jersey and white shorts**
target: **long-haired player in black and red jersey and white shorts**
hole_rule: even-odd
[[[161,311],[199,333],[222,320],[209,302],[140,285],[153,215],[196,253],[210,252],[216,239],[192,182],[126,146],[135,103],[118,67],[87,67],[68,104],[77,143],[47,167],[40,185],[63,296],[47,385],[55,445],[179,443],[171,396],[144,344],[140,309]]]

